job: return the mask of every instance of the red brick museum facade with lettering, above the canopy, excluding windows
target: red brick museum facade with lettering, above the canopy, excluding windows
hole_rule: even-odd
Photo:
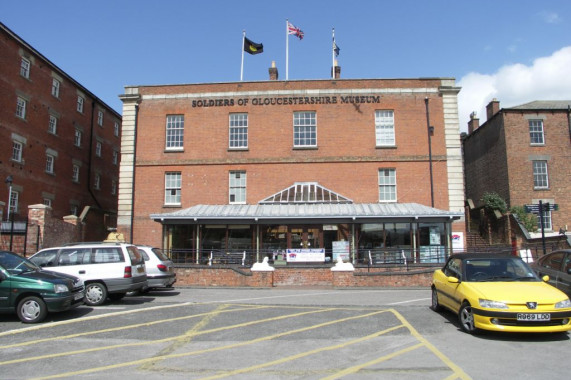
[[[127,87],[123,121],[126,128],[128,118],[131,130],[124,130],[122,153],[125,158],[132,149],[136,161],[134,167],[121,169],[125,180],[118,229],[127,240],[162,246],[162,226],[149,215],[197,204],[228,204],[233,170],[247,173],[246,204],[306,181],[355,203],[379,202],[379,170],[386,168],[397,173],[397,202],[431,206],[426,99],[434,126],[433,206],[462,212],[457,118],[446,116],[457,116],[458,91],[453,79],[441,78]],[[394,146],[376,145],[376,110],[394,111]],[[294,147],[293,114],[299,111],[317,115],[315,147]],[[248,115],[247,149],[229,148],[232,113]],[[165,148],[167,115],[184,116],[180,151]],[[171,171],[182,177],[181,204],[174,209],[165,205],[165,173]],[[464,232],[464,222],[453,228]]]

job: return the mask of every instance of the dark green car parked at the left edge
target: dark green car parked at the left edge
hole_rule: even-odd
[[[75,276],[42,270],[15,253],[0,251],[0,312],[24,323],[41,322],[48,312],[83,304],[85,286]]]

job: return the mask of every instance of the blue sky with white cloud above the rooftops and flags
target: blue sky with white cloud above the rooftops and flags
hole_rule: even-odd
[[[571,99],[568,0],[0,0],[0,21],[119,113],[125,85],[240,80],[242,31],[264,52],[244,80],[454,77],[460,127],[483,107]]]

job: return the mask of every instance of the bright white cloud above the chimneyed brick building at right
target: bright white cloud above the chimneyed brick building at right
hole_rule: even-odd
[[[534,100],[571,99],[571,46],[548,57],[537,58],[530,66],[521,63],[501,67],[494,74],[468,73],[458,81],[460,131],[467,131],[470,114],[476,111],[480,125],[486,121],[486,105],[496,98],[501,108]]]

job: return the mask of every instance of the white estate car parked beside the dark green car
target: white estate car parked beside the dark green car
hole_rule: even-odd
[[[147,287],[145,261],[132,244],[74,243],[38,251],[30,260],[44,270],[77,276],[85,283],[85,304],[102,305],[107,297]]]

